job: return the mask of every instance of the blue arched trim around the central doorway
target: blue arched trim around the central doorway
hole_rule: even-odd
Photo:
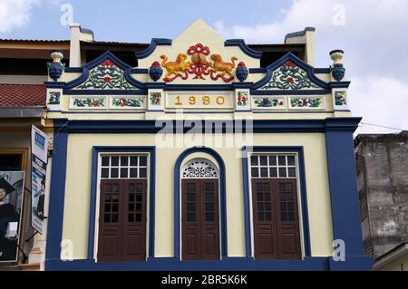
[[[183,159],[186,159],[194,152],[204,152],[217,160],[219,165],[219,207],[221,211],[220,231],[221,231],[221,258],[228,258],[227,240],[227,204],[226,204],[226,184],[225,184],[225,163],[219,153],[214,149],[206,147],[193,147],[180,153],[174,166],[174,257],[180,259],[180,166]]]

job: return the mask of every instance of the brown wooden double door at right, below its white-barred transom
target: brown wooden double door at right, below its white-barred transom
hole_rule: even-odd
[[[252,179],[257,260],[300,259],[296,179]]]

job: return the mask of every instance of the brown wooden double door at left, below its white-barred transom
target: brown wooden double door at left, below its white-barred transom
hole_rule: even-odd
[[[102,179],[98,261],[146,258],[146,180]]]

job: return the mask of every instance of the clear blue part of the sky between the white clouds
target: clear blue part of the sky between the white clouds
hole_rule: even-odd
[[[0,1],[1,2],[1,1]],[[2,38],[69,39],[60,24],[61,5],[73,6],[73,22],[90,28],[98,40],[150,43],[152,37],[174,38],[197,18],[209,24],[253,25],[277,19],[279,11],[291,1],[131,1],[71,0],[34,1],[30,23]],[[112,5],[117,3],[117,5]],[[282,32],[282,35],[285,33]]]

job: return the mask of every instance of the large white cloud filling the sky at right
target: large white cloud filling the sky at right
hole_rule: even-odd
[[[345,25],[335,25],[343,16]],[[341,9],[340,9],[341,10]],[[283,43],[287,33],[316,27],[316,63],[327,67],[333,49],[345,50],[348,97],[355,116],[364,122],[408,130],[408,1],[295,0],[279,21],[252,26],[215,23],[225,38],[248,43]],[[359,132],[395,132],[364,126]],[[398,132],[398,131],[396,131]]]

